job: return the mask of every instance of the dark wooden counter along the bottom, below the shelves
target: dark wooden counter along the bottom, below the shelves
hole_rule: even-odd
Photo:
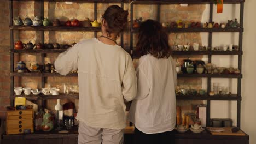
[[[75,144],[77,143],[78,129],[74,128],[68,134],[59,134],[57,131],[51,131],[46,133],[43,131],[37,131],[33,134],[16,134],[16,135],[3,135],[2,144],[10,143],[37,143],[37,144]],[[125,130],[125,144],[132,143],[133,140],[133,129],[127,128]],[[248,144],[249,136],[225,136],[225,135],[211,135],[208,131],[203,131],[200,134],[192,133],[187,131],[184,134],[176,133],[176,144]],[[168,143],[168,142],[166,142]]]

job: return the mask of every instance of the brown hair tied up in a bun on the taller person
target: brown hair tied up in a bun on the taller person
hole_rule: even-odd
[[[110,37],[111,33],[119,34],[124,31],[127,26],[128,11],[118,5],[111,5],[102,15],[102,18],[105,19],[107,23],[107,25],[105,25],[106,32],[108,37]]]

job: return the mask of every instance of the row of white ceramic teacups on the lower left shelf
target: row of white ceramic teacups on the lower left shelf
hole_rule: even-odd
[[[33,90],[31,87],[15,87],[14,92],[16,95],[21,95],[22,91],[25,95],[30,95],[31,92],[33,95],[38,95],[40,93],[43,93],[44,95],[59,95],[60,89],[54,88],[42,88],[42,91],[39,91],[38,89]]]

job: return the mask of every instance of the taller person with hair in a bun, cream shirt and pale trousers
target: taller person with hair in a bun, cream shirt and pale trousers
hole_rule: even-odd
[[[78,143],[123,143],[125,101],[137,93],[132,59],[117,38],[127,25],[128,11],[118,5],[102,15],[102,35],[75,44],[61,53],[55,69],[67,75],[78,69]]]

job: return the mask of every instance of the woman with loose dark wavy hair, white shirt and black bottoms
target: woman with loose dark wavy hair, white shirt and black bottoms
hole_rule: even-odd
[[[136,143],[171,143],[176,124],[176,68],[161,24],[147,20],[139,27],[136,53],[140,56],[138,91],[129,120],[135,124]]]

